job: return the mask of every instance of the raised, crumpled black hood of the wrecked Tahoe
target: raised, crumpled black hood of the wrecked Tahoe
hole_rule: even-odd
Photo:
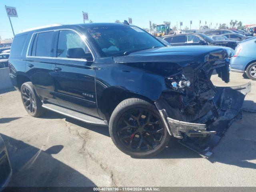
[[[127,56],[113,57],[113,60],[116,63],[171,62],[185,66],[191,62],[223,60],[233,54],[232,49],[220,46],[172,46],[142,50]]]

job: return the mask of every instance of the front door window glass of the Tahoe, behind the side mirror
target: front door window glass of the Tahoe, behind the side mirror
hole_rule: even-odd
[[[60,30],[57,46],[57,57],[66,58],[70,48],[82,48],[85,53],[90,52],[81,37],[71,30]]]

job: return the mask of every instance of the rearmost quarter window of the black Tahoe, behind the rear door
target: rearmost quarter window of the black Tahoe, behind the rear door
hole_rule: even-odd
[[[28,34],[14,37],[10,56],[21,56]]]

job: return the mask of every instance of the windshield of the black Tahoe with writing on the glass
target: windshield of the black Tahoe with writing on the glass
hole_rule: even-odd
[[[135,26],[104,26],[88,29],[102,56],[120,56],[156,47],[164,47],[156,38]]]

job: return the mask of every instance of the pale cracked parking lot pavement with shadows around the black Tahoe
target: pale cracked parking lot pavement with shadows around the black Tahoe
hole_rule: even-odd
[[[225,84],[250,81],[231,73]],[[244,108],[256,109],[256,82]],[[9,186],[256,186],[256,113],[243,112],[204,159],[172,138],[158,156],[136,159],[120,152],[108,128],[48,111],[29,116],[16,90],[0,93],[0,134],[9,152]]]

